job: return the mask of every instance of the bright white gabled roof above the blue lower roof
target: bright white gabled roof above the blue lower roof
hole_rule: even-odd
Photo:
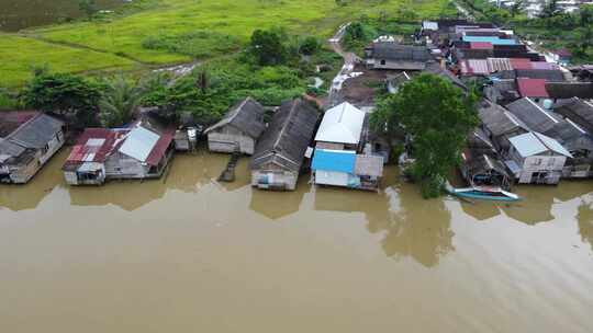
[[[345,102],[325,112],[315,141],[353,143],[360,142],[365,112]]]

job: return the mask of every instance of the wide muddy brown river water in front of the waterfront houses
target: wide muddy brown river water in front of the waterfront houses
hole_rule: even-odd
[[[513,206],[165,180],[0,186],[0,332],[593,332],[593,183]]]

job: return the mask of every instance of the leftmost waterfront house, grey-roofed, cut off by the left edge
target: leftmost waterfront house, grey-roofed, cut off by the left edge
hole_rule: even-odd
[[[64,146],[64,125],[41,112],[1,112],[0,182],[27,183]]]

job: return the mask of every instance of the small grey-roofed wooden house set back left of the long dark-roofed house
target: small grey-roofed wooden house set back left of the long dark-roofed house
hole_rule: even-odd
[[[265,129],[264,106],[247,97],[235,104],[219,123],[204,133],[208,135],[210,151],[253,154]]]

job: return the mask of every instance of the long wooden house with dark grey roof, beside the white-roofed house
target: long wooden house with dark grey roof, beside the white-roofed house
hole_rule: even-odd
[[[294,191],[317,118],[317,110],[302,99],[282,103],[251,157],[253,186]]]

